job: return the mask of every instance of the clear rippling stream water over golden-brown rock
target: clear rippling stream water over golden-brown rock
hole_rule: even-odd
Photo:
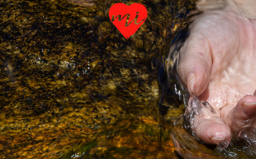
[[[120,2],[148,10],[128,40],[108,18]],[[169,50],[194,6],[0,0],[0,158],[253,158],[236,138],[222,151],[203,144],[183,119]]]

